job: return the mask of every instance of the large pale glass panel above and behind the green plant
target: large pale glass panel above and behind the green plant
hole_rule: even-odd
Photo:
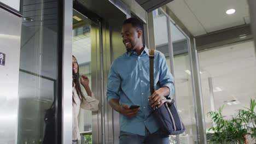
[[[223,117],[230,120],[236,110],[249,108],[250,99],[256,98],[254,50],[250,40],[198,53],[207,138],[213,133],[209,130],[212,123],[207,112],[224,105]]]

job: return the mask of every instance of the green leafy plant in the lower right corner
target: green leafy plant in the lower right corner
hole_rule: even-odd
[[[213,130],[213,136],[210,143],[246,143],[246,135],[250,135],[255,139],[255,106],[256,101],[251,99],[250,109],[238,110],[231,120],[225,120],[222,115],[223,107],[217,112],[208,112],[213,126],[209,130]]]

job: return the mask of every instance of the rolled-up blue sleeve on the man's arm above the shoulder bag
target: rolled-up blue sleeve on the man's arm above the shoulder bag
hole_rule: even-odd
[[[174,94],[174,78],[167,68],[166,59],[164,54],[160,55],[160,87],[168,87],[170,89],[170,94],[167,97],[171,97]]]

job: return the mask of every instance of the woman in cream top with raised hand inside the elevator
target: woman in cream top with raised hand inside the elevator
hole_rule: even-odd
[[[82,75],[79,82],[79,66],[77,59],[73,56],[73,136],[72,143],[77,144],[80,140],[80,132],[78,128],[78,114],[80,107],[85,110],[97,111],[98,110],[98,100],[92,95],[91,89],[89,87],[88,77]],[[84,87],[88,96],[85,96],[81,91],[81,85]]]

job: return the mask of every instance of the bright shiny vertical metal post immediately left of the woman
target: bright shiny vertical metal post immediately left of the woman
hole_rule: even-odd
[[[72,143],[72,16],[73,1],[63,5],[62,143]]]

